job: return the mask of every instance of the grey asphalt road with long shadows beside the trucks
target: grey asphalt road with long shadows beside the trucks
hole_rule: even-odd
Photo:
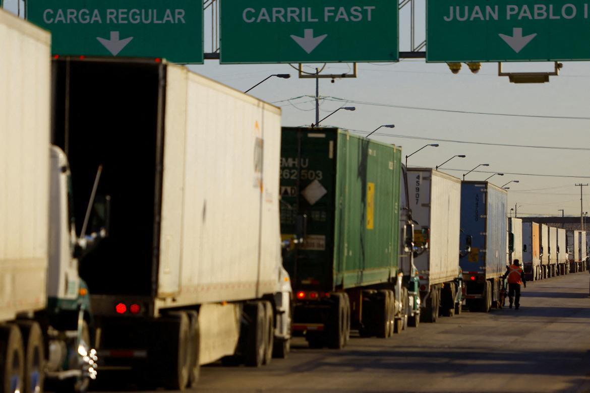
[[[343,351],[297,338],[289,358],[259,369],[203,367],[196,391],[590,392],[589,279],[530,283],[519,310],[441,317]]]

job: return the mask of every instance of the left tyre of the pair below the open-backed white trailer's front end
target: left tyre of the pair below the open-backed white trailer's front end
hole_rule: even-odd
[[[263,302],[248,303],[244,306],[244,311],[250,320],[244,351],[244,364],[250,367],[259,367],[262,365],[266,353],[264,304]]]

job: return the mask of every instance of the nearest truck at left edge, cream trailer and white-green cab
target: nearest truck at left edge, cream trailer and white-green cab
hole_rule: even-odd
[[[78,257],[107,228],[94,215],[78,237],[71,221],[70,184],[76,179],[63,151],[50,146],[50,47],[48,32],[0,9],[2,393],[42,392],[45,384],[82,391],[97,374],[89,292],[78,275]],[[89,196],[80,195],[84,208],[105,212],[104,203],[87,209]]]

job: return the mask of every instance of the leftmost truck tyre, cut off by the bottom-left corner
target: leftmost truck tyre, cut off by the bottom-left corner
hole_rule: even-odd
[[[21,332],[16,325],[0,326],[0,392],[24,391],[24,348]]]

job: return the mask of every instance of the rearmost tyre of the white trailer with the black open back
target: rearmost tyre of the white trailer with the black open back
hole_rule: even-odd
[[[162,364],[158,372],[162,375],[163,385],[167,389],[182,390],[189,383],[191,367],[190,328],[191,323],[186,312],[170,312],[162,321],[167,339],[160,347]]]

